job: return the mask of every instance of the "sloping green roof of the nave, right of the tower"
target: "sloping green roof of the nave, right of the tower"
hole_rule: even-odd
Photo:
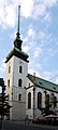
[[[46,90],[58,93],[58,84],[53,83],[50,81],[47,81],[45,79],[32,76],[30,74],[28,74],[27,77],[32,83],[34,83],[35,87],[39,87],[39,88],[46,89]]]

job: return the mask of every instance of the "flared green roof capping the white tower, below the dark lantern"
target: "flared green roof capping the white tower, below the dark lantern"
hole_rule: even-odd
[[[14,48],[10,51],[10,53],[8,54],[5,63],[8,63],[9,60],[10,60],[13,55],[15,55],[15,56],[17,56],[17,57],[19,57],[19,58],[21,58],[21,60],[24,60],[24,61],[26,61],[26,62],[29,62],[29,61],[27,60],[27,58],[29,57],[28,54],[14,47]]]

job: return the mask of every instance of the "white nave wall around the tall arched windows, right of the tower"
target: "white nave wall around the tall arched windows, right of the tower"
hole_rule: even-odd
[[[45,93],[44,91],[47,92],[47,94],[49,94],[49,99],[52,98],[52,91],[47,91],[45,89],[41,89],[38,88],[35,86],[35,93],[34,93],[34,117],[38,117],[41,115],[41,110],[38,108],[38,93],[41,92],[42,93],[42,107],[45,107]],[[31,108],[28,108],[28,93],[31,93]],[[54,95],[57,98],[58,101],[58,93],[54,92]],[[52,107],[52,110],[56,110],[58,109],[58,104],[57,107]],[[57,112],[58,113],[58,112]],[[29,116],[30,119],[33,119],[33,86],[31,88],[27,89],[27,94],[26,94],[26,114]]]

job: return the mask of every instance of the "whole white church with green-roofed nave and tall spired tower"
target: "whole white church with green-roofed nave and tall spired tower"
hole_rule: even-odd
[[[18,27],[14,47],[6,56],[6,80],[5,93],[9,95],[9,104],[12,106],[8,119],[23,120],[26,115],[32,119],[41,115],[41,109],[45,107],[48,99],[50,109],[57,110],[58,84],[28,74],[28,57],[23,52],[19,34],[19,10],[18,6]],[[53,103],[54,100],[54,103]]]

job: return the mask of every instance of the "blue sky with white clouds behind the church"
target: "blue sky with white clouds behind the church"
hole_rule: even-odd
[[[4,62],[14,47],[19,4],[28,73],[58,83],[58,0],[0,0],[0,77],[5,80]]]

